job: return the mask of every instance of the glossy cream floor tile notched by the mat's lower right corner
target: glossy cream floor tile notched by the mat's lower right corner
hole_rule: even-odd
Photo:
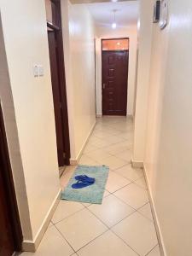
[[[135,210],[124,202],[119,201],[114,195],[108,195],[103,199],[102,205],[91,205],[88,207],[96,217],[102,220],[108,227],[112,227],[117,224],[120,220],[130,215]]]

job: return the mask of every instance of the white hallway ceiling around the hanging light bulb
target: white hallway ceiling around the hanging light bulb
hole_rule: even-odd
[[[124,1],[116,3],[88,3],[88,9],[98,26],[111,26],[113,9],[117,9],[116,23],[119,27],[137,24],[138,1]]]

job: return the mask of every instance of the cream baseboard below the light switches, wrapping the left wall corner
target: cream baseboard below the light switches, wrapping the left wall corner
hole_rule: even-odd
[[[22,242],[22,250],[24,252],[31,252],[34,253],[36,252],[39,243],[41,242],[45,231],[47,230],[48,226],[49,226],[49,222],[51,220],[51,218],[53,217],[53,214],[56,210],[56,207],[58,206],[58,203],[61,199],[61,189],[59,189],[57,195],[55,196],[55,200],[53,201],[51,207],[49,208],[49,211],[47,212],[44,221],[40,227],[40,229],[38,230],[38,234],[35,236],[35,238],[31,241],[31,240],[24,240]]]

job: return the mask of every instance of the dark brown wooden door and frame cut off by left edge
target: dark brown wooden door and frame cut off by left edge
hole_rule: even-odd
[[[0,106],[0,256],[20,252],[22,232]]]

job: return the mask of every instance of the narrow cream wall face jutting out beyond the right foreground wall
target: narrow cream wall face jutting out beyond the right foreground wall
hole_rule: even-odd
[[[152,17],[154,0],[140,1],[138,25],[137,95],[135,113],[134,147],[132,160],[143,162],[147,127],[148,84],[150,72]],[[148,8],[149,7],[149,8]]]

